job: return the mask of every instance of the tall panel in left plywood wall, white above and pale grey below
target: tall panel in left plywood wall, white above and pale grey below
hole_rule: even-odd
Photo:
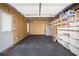
[[[0,12],[0,52],[13,45],[11,15]]]

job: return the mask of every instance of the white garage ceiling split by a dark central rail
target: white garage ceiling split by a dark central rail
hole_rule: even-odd
[[[39,3],[10,3],[26,17],[53,17],[71,3],[42,3],[39,16]]]

